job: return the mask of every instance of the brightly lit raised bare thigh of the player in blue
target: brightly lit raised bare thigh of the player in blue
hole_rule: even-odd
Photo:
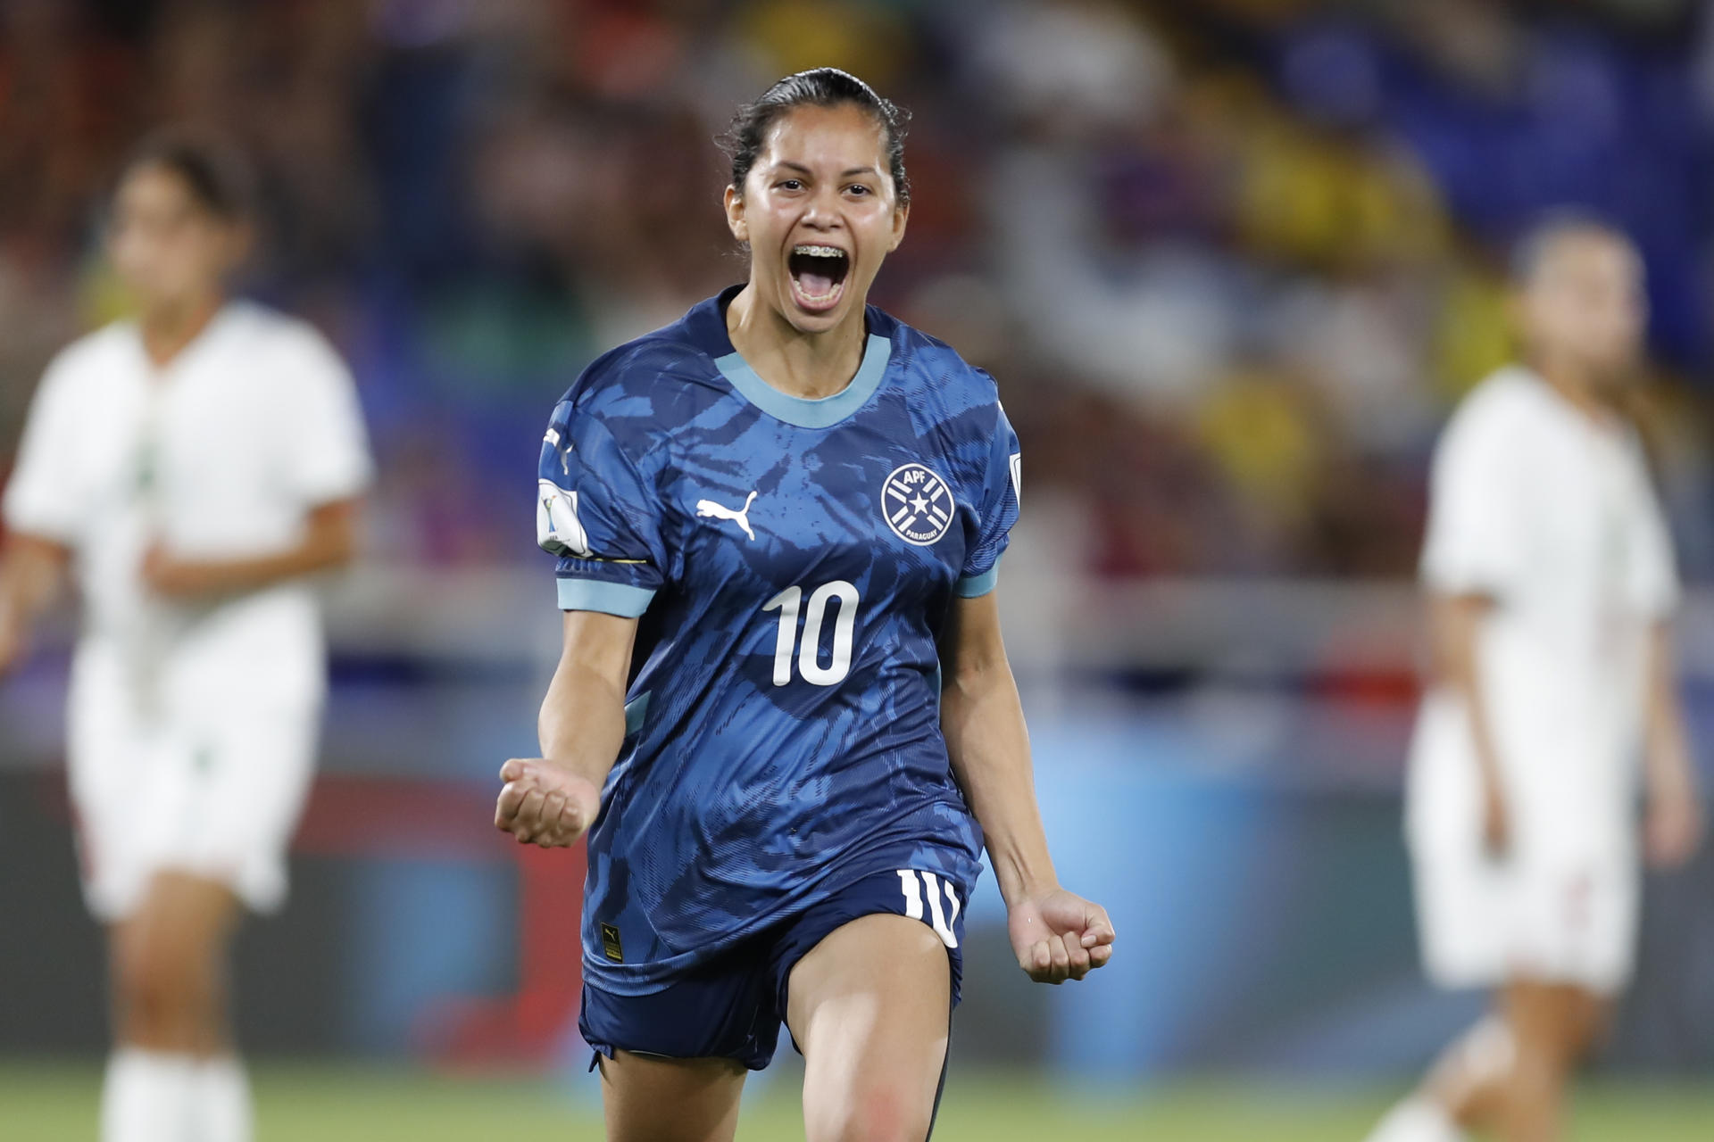
[[[787,1024],[804,1051],[809,1142],[927,1137],[950,1017],[946,947],[917,919],[862,916],[797,961]]]

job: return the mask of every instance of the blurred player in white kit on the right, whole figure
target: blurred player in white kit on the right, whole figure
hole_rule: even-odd
[[[1700,841],[1671,538],[1621,414],[1642,286],[1623,235],[1541,224],[1517,260],[1527,366],[1477,385],[1435,455],[1405,834],[1429,978],[1495,998],[1371,1142],[1565,1137],[1570,1075],[1630,979],[1640,856],[1676,866]]]

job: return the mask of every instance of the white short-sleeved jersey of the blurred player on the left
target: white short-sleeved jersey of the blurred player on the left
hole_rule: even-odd
[[[369,479],[345,365],[307,324],[237,301],[165,368],[132,322],[62,351],[3,510],[14,531],[74,553],[81,669],[118,664],[168,719],[209,704],[314,711],[324,651],[309,584],[173,604],[144,589],[142,555],[151,541],[189,560],[278,553],[310,509]]]

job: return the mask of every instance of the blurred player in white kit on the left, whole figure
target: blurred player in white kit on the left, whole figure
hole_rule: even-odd
[[[110,933],[105,1142],[252,1135],[228,945],[285,897],[326,690],[305,577],[351,558],[370,479],[339,358],[225,294],[247,207],[216,140],[142,146],[110,233],[137,318],[55,358],[5,488],[0,673],[67,572],[82,596],[67,752]]]

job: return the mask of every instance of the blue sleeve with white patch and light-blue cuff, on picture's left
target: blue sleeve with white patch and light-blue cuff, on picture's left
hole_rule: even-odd
[[[536,471],[536,544],[559,556],[559,606],[636,618],[663,582],[660,498],[600,414],[560,401]]]

